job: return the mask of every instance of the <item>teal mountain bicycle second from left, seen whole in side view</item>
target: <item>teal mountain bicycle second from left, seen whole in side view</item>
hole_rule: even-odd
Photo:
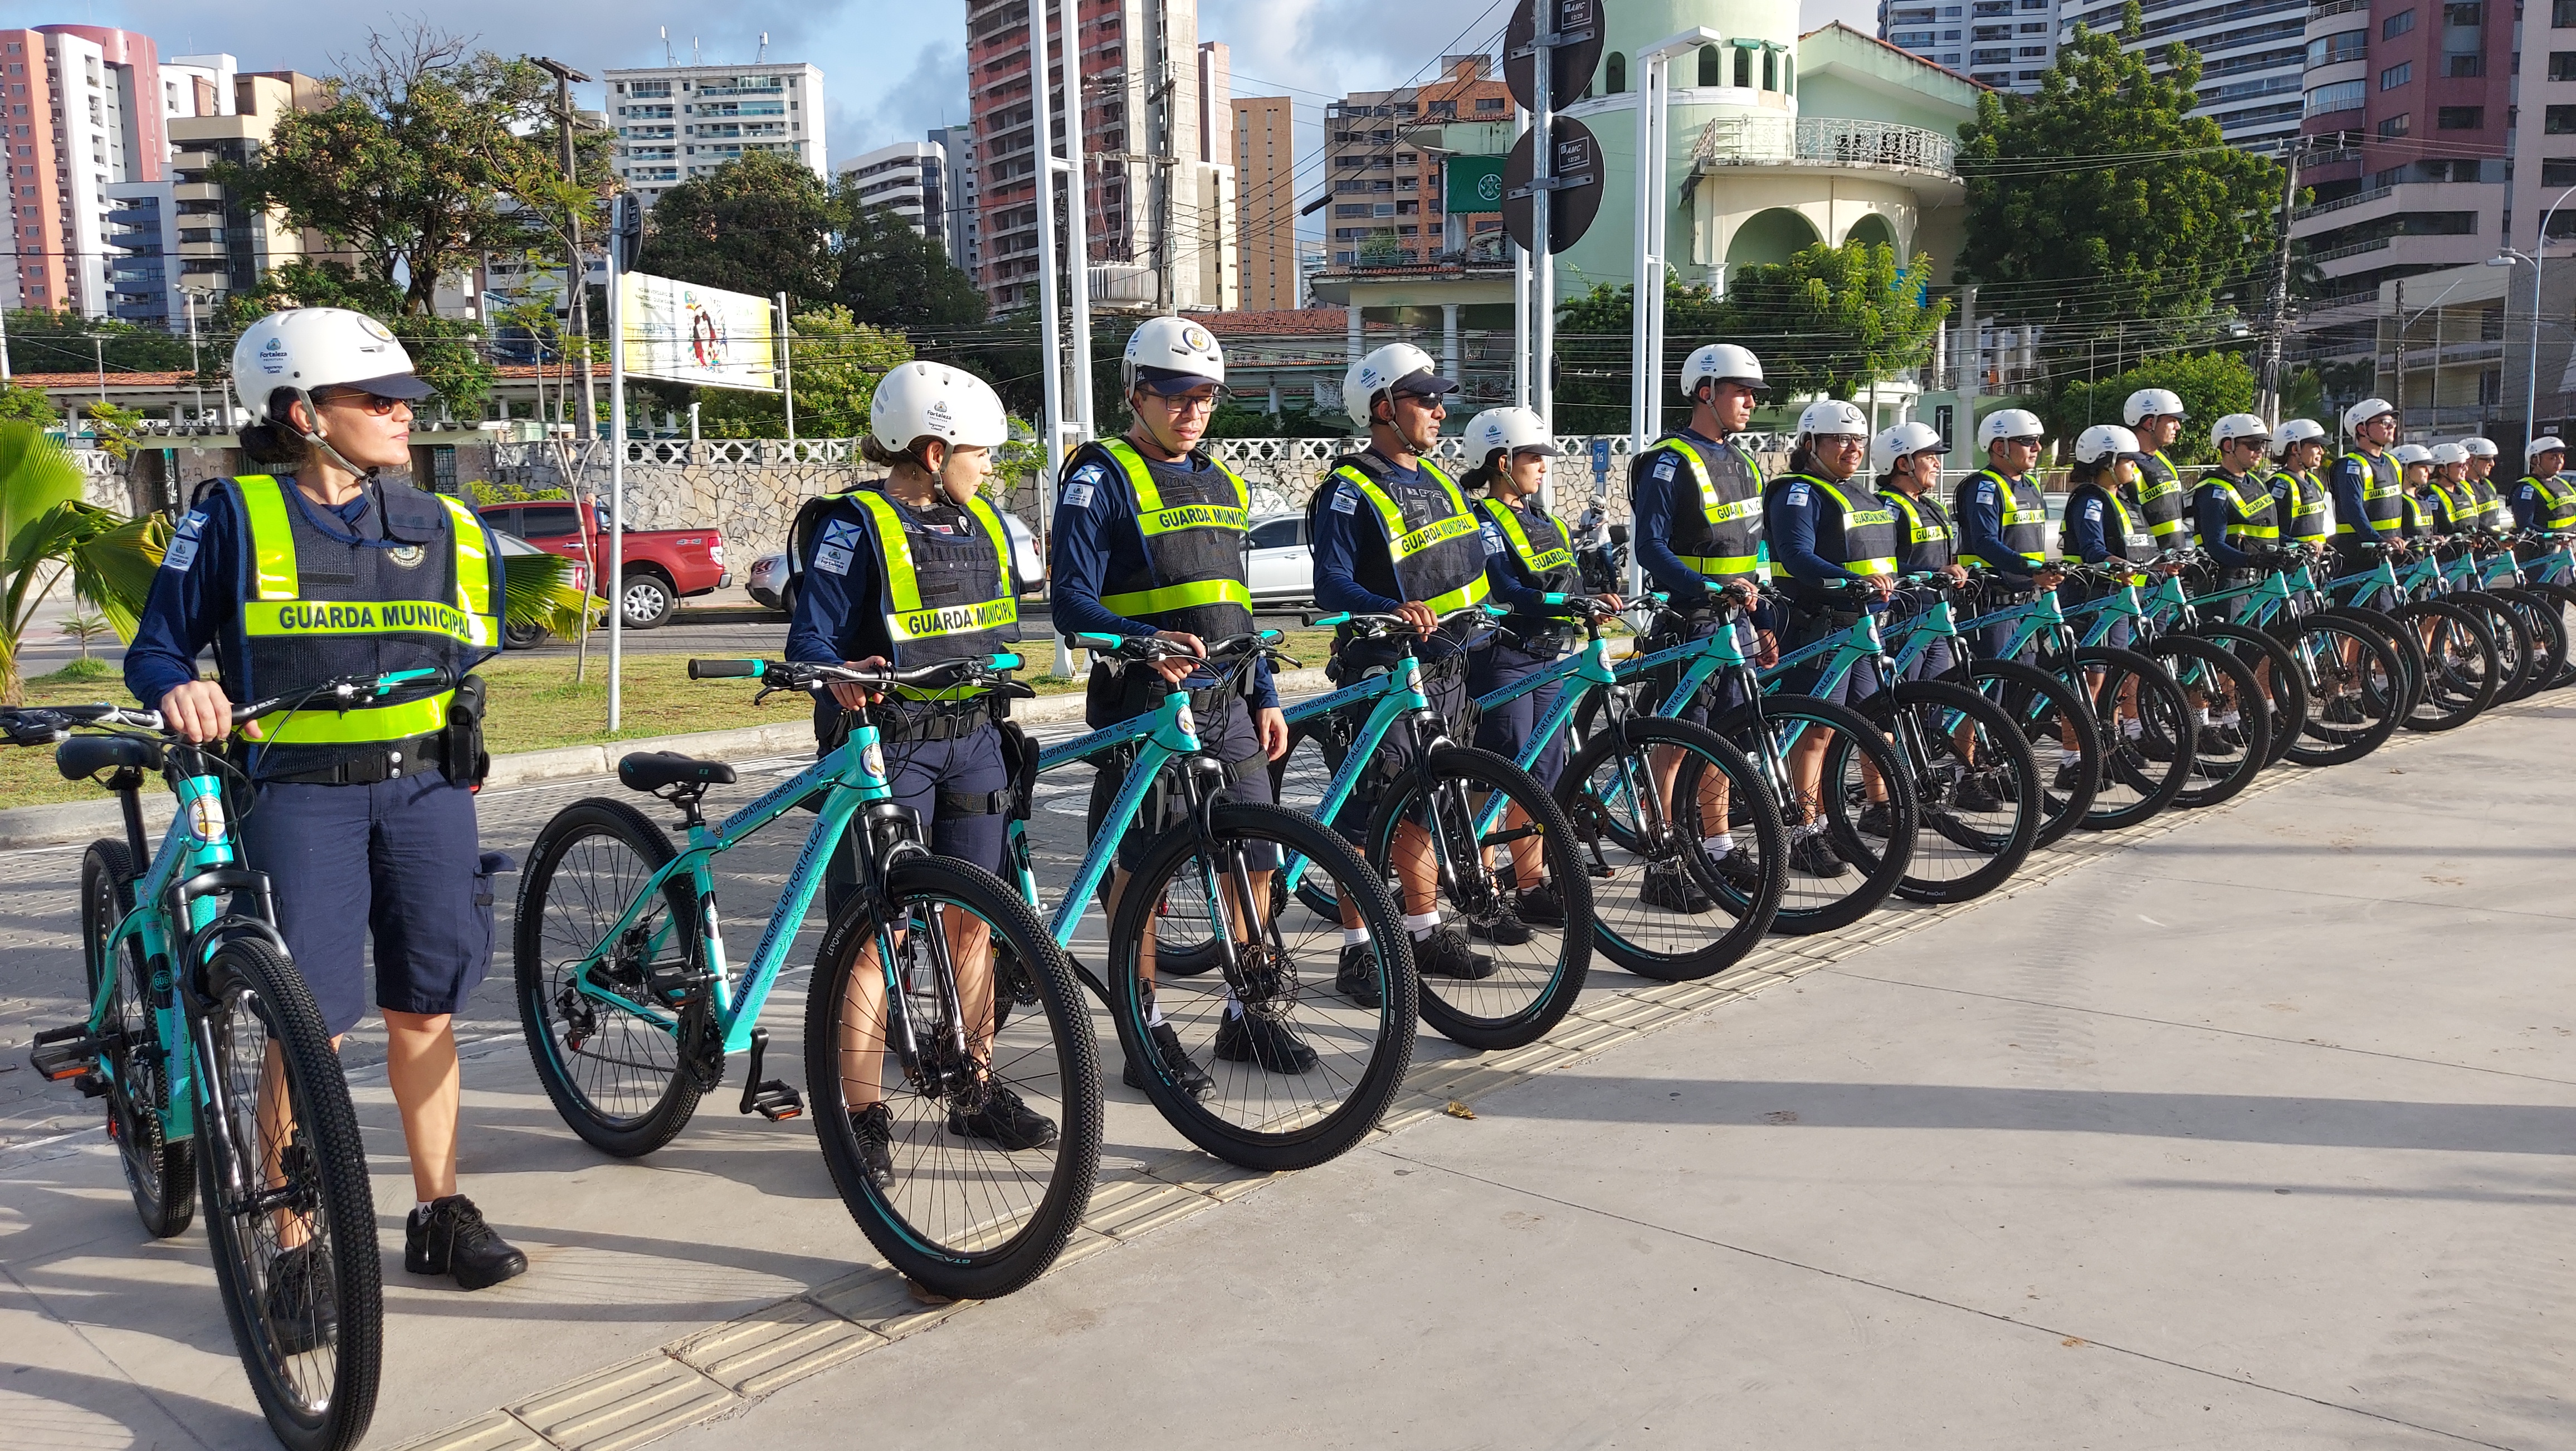
[[[917,670],[690,660],[688,673],[757,680],[760,696],[835,683],[1025,691],[1002,678],[1018,665],[1018,655]],[[621,1157],[667,1144],[726,1059],[750,1054],[739,1111],[770,1121],[811,1111],[868,1242],[938,1294],[992,1299],[1043,1273],[1090,1204],[1100,1059],[1056,941],[992,871],[922,845],[920,820],[886,789],[886,750],[858,709],[848,742],[714,825],[701,799],[737,781],[732,765],[618,760],[626,789],[680,812],[688,848],[675,853],[621,799],[574,802],[546,822],[520,876],[520,1026],[554,1108]],[[750,961],[734,964],[714,861],[799,807],[817,812],[814,827]],[[762,1077],[760,1010],[850,832],[858,889],[814,956],[799,1093]]]

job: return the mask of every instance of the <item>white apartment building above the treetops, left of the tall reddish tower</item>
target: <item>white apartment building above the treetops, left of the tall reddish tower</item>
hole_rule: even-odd
[[[819,67],[665,64],[611,70],[605,80],[613,165],[647,206],[747,152],[786,152],[832,178]]]

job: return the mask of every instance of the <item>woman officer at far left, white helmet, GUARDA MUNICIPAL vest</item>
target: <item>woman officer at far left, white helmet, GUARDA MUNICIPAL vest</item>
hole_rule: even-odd
[[[500,649],[502,564],[464,503],[386,482],[410,469],[412,405],[430,387],[361,312],[299,307],[252,322],[232,387],[258,420],[242,454],[270,472],[214,479],[152,577],[126,688],[188,740],[232,735],[232,704],[340,675],[435,668],[379,701],[281,711],[240,729],[247,866],[276,892],[278,933],[332,1039],[366,1015],[366,948],[386,1080],[417,1198],[402,1265],[484,1289],[528,1268],[456,1191],[453,1015],[492,964],[492,871],[474,832],[482,680]],[[420,603],[314,634],[301,603]],[[216,678],[196,657],[214,647]],[[294,1253],[294,1250],[289,1250]],[[270,1283],[291,1271],[270,1268]]]

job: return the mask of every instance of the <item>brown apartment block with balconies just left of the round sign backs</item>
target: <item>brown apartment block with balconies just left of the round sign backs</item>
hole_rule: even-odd
[[[1589,95],[1589,90],[1587,90]],[[1450,121],[1510,121],[1512,93],[1492,57],[1440,57],[1440,80],[1396,90],[1352,90],[1324,108],[1324,188],[1329,260],[1430,263],[1448,250],[1440,211],[1440,155],[1412,131]],[[1502,214],[1479,216],[1476,235],[1499,235]]]

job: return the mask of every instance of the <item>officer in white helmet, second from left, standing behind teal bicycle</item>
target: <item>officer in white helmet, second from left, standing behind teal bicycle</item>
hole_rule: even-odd
[[[811,533],[788,624],[788,660],[912,670],[940,660],[987,657],[1020,639],[1020,582],[1010,536],[976,497],[992,477],[992,451],[1010,438],[999,394],[945,363],[902,363],[876,384],[860,451],[889,469],[878,487],[840,495]],[[927,624],[925,624],[927,621]],[[871,704],[866,686],[832,686],[814,701],[817,747],[848,740],[842,709]],[[873,719],[886,742],[886,786],[927,827],[930,850],[1002,871],[1005,791],[1002,701],[989,686],[899,688]],[[855,861],[848,838],[832,856],[829,884],[848,892]],[[835,907],[837,910],[837,907]],[[992,941],[976,920],[951,920],[958,995],[969,1023],[992,1031]],[[881,997],[884,979],[853,972],[850,992]],[[884,1023],[884,1003],[858,1003],[842,1023]],[[876,1080],[881,1044],[842,1044],[842,1095],[860,1155],[878,1183],[891,1180],[891,1111]],[[992,1082],[951,1131],[1002,1149],[1038,1149],[1056,1124],[1010,1088]]]

